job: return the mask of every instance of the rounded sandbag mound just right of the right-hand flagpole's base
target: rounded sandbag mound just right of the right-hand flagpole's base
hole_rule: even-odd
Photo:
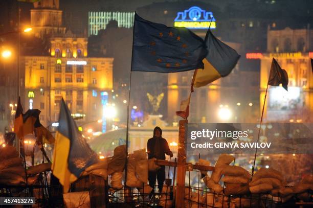
[[[249,189],[252,194],[265,194],[273,189],[282,188],[284,183],[283,175],[277,170],[261,168],[254,174]]]

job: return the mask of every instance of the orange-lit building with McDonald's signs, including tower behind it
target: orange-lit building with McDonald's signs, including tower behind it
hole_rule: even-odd
[[[39,109],[40,122],[49,126],[58,121],[63,98],[73,117],[81,118],[78,125],[97,123],[105,105],[102,95],[113,88],[114,59],[88,56],[86,37],[70,30],[64,33],[65,28],[59,28],[62,11],[58,5],[59,1],[42,0],[34,3],[31,11],[31,22],[38,16],[43,19],[40,24],[44,27],[35,27],[35,31],[49,39],[50,49],[49,56],[24,56],[21,60],[25,64],[24,109]]]

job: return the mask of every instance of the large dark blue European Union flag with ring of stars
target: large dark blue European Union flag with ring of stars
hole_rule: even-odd
[[[135,14],[131,71],[183,72],[204,68],[204,40],[187,28],[167,27]]]

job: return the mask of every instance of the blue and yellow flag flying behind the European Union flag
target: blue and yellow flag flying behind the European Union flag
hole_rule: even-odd
[[[218,78],[226,77],[240,58],[234,49],[218,40],[210,30],[207,32],[205,43],[208,55],[203,59],[204,69],[199,69],[196,73],[194,87],[202,87]]]

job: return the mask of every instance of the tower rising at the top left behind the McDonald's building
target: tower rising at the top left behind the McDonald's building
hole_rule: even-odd
[[[35,36],[40,38],[51,34],[64,34],[59,0],[35,2],[34,9],[31,10],[31,27]]]

